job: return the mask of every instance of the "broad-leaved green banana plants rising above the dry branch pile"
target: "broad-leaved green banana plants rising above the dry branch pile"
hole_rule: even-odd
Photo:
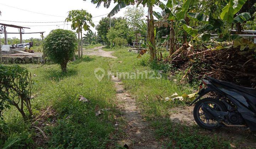
[[[158,18],[158,22],[155,23],[158,27],[170,27],[170,35],[165,39],[164,42],[170,42],[170,55],[176,50],[177,37],[181,34],[181,28],[186,31],[189,35],[194,37],[201,37],[203,41],[210,39],[210,34],[203,31],[217,31],[217,33],[229,34],[229,25],[231,23],[243,23],[251,18],[249,12],[240,13],[235,16],[246,0],[230,0],[228,4],[223,7],[222,12],[218,17],[213,17],[210,12],[207,15],[201,12],[193,12],[190,10],[192,0],[183,0],[182,6],[175,0],[168,0],[167,4],[159,2],[159,7],[167,14],[161,16],[159,13],[154,12],[154,16]],[[191,12],[189,12],[191,11]],[[187,23],[186,17],[195,22],[200,22],[203,25],[202,28],[194,29]],[[224,27],[226,24],[226,27]],[[198,35],[198,32],[202,34]],[[234,35],[231,39],[241,38],[238,35]]]

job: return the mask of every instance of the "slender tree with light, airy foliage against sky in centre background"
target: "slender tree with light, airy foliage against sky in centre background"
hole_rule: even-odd
[[[133,28],[133,32],[137,41],[136,43],[138,44],[137,34],[140,33],[139,29],[143,25],[142,23],[144,10],[141,6],[127,7],[126,11],[124,12],[124,15],[126,17],[128,25]]]

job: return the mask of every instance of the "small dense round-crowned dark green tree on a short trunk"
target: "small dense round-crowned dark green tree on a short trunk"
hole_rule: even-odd
[[[43,48],[49,59],[59,64],[62,72],[66,72],[66,65],[77,48],[76,35],[69,30],[55,29],[44,39]]]

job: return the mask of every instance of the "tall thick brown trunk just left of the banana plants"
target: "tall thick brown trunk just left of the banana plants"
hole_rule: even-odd
[[[150,61],[153,61],[156,58],[156,50],[155,50],[155,34],[154,34],[154,17],[153,17],[153,6],[148,5],[149,12],[149,23],[148,23],[148,41],[149,44],[149,52],[150,52]]]

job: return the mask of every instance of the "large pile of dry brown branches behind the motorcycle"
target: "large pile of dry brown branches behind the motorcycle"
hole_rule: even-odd
[[[190,82],[204,75],[246,87],[256,87],[256,59],[253,50],[240,51],[230,46],[220,50],[182,50],[165,62],[171,63]]]

